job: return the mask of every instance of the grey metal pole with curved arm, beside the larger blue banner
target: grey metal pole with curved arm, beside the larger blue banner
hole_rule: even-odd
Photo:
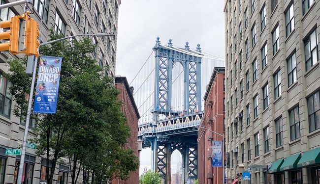
[[[76,34],[76,35],[60,38],[60,39],[57,39],[57,40],[44,42],[44,43],[40,44],[40,46],[52,44],[52,43],[59,42],[59,41],[62,41],[62,40],[65,40],[65,39],[69,39],[69,38],[73,38],[73,37],[76,37],[76,36],[87,36],[87,35],[88,36],[90,36],[90,35],[92,35],[92,36],[115,36],[114,34],[107,34],[107,33]],[[28,131],[29,131],[29,122],[30,122],[30,115],[31,115],[31,106],[32,106],[32,98],[33,98],[33,88],[34,88],[34,82],[35,82],[36,66],[37,66],[37,58],[35,57],[34,64],[33,64],[32,82],[31,82],[31,89],[30,89],[30,94],[29,94],[28,110],[27,110],[27,117],[26,117],[26,124],[25,124],[25,133],[24,133],[23,142],[22,142],[21,159],[20,159],[20,164],[19,164],[19,172],[18,172],[17,184],[21,184],[22,183],[22,176],[24,174],[23,173],[23,167],[24,167],[25,155],[26,155],[26,145],[27,145],[27,138],[28,138]]]

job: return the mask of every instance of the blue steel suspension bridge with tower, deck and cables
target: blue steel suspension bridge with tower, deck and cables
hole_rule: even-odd
[[[224,58],[202,51],[162,44],[157,37],[152,53],[130,82],[141,118],[138,140],[151,148],[151,171],[171,184],[171,154],[182,156],[182,183],[197,178],[197,126],[204,116],[203,96],[214,67]]]

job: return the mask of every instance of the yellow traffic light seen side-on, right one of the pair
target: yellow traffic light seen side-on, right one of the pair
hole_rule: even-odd
[[[39,47],[39,29],[38,23],[28,17],[26,18],[26,29],[25,29],[25,47],[26,50],[23,51],[26,55],[35,55],[39,56],[38,47]]]

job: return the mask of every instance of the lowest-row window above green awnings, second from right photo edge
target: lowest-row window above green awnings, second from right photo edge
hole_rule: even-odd
[[[291,141],[300,137],[299,106],[289,111]]]

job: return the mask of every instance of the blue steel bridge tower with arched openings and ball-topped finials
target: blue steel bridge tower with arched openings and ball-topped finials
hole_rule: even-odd
[[[180,113],[191,113],[195,110],[201,110],[201,49],[197,45],[196,51],[192,51],[189,43],[186,42],[185,48],[173,47],[172,40],[169,39],[167,46],[160,44],[160,38],[157,37],[156,45],[153,48],[156,58],[155,65],[155,99],[153,122],[150,127],[157,126],[159,115],[178,115]],[[184,71],[184,110],[177,111],[171,109],[172,100],[172,69],[175,62],[180,62]],[[170,157],[176,146],[183,157],[183,181],[186,182],[189,174],[196,177],[196,167],[190,167],[190,158],[196,162],[196,145],[167,143],[161,145],[161,137],[157,134],[146,137],[150,142],[152,150],[151,170],[159,171],[165,178],[165,183],[171,183]],[[191,150],[192,149],[192,150]],[[195,159],[194,159],[195,158]],[[192,163],[196,165],[196,163]]]

